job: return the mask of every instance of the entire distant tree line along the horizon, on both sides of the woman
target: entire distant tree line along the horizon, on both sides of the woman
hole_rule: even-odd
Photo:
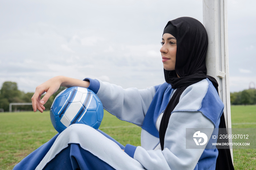
[[[60,89],[49,98],[48,102],[44,105],[46,110],[50,109],[54,98],[64,89],[65,87],[60,87]],[[8,112],[10,103],[31,103],[33,94],[34,93],[31,92],[25,93],[20,91],[16,82],[6,81],[3,83],[0,90],[0,109],[4,109],[5,112]],[[256,104],[256,89],[230,93],[230,103],[231,105]],[[14,105],[12,107],[13,111],[33,111],[32,105]]]

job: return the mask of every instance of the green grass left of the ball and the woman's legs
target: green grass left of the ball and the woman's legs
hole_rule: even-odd
[[[0,169],[12,169],[56,134],[49,112],[0,114]]]

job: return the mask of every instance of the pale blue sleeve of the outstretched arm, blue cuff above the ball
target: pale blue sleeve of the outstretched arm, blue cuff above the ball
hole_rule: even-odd
[[[97,94],[104,109],[118,119],[142,126],[148,107],[155,95],[154,87],[143,90],[123,89],[121,86],[100,80],[86,78],[84,81],[90,81],[89,89]]]

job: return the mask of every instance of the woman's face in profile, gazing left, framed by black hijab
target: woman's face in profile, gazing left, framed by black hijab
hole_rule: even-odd
[[[162,55],[163,68],[171,71],[175,70],[177,40],[172,34],[165,33],[162,38],[162,47],[160,49]]]

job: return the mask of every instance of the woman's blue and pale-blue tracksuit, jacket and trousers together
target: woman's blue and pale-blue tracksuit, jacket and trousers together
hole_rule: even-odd
[[[142,128],[141,146],[123,147],[99,130],[73,124],[23,159],[16,169],[215,170],[217,148],[187,149],[185,139],[186,128],[211,128],[210,133],[218,134],[214,128],[219,126],[224,105],[208,79],[188,86],[181,94],[170,116],[163,150],[159,126],[175,91],[170,84],[139,90],[90,78],[85,81],[90,81],[89,89],[107,111]]]

